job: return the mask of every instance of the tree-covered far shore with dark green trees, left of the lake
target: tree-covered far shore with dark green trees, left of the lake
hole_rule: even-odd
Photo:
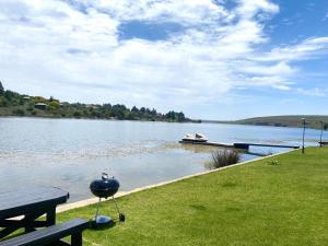
[[[54,97],[22,95],[4,90],[0,81],[0,116],[34,116],[51,118],[93,118],[93,119],[128,119],[188,122],[191,120],[184,113],[171,110],[167,114],[154,108],[128,108],[121,104],[81,104],[60,102]]]

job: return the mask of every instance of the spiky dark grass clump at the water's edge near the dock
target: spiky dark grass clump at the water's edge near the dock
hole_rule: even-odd
[[[241,154],[235,150],[218,150],[212,153],[212,162],[207,164],[210,169],[220,168],[223,166],[230,166],[238,163],[241,160]]]

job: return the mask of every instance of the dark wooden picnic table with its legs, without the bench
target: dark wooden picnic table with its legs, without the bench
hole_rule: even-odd
[[[67,202],[68,198],[68,192],[54,187],[0,190],[0,239],[19,229],[28,233],[55,225],[56,207]],[[36,221],[44,214],[44,221]]]

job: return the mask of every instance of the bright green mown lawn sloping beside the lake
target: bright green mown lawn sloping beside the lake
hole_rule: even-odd
[[[328,148],[256,161],[119,199],[127,221],[84,245],[328,245]],[[92,218],[95,206],[59,214]],[[104,214],[115,215],[104,202]]]

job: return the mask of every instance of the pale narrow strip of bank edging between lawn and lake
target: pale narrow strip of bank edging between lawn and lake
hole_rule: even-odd
[[[246,164],[251,163],[251,162],[257,162],[257,161],[279,156],[279,155],[282,155],[282,154],[285,154],[285,153],[291,153],[291,152],[294,152],[294,151],[297,151],[297,150],[290,150],[290,151],[286,151],[286,152],[277,153],[277,154],[272,154],[272,155],[268,155],[268,156],[263,156],[263,157],[258,157],[258,159],[255,159],[255,160],[249,160],[249,161],[236,163],[236,164],[233,164],[233,165],[230,165],[230,166],[224,166],[224,167],[216,168],[216,169],[211,169],[211,171],[206,171],[206,172],[201,172],[201,173],[197,173],[197,174],[191,174],[191,175],[183,176],[180,178],[175,178],[175,179],[167,180],[167,181],[161,181],[161,183],[156,183],[156,184],[153,184],[153,185],[143,186],[143,187],[136,188],[136,189],[132,189],[132,190],[129,190],[129,191],[118,191],[116,194],[115,198],[125,197],[125,196],[128,196],[128,195],[131,195],[131,194],[137,194],[137,192],[143,191],[143,190],[153,189],[153,188],[157,188],[157,187],[161,187],[161,186],[174,184],[174,183],[181,181],[181,180],[185,180],[185,179],[188,179],[188,178],[198,177],[198,176],[207,175],[207,174],[210,174],[210,173],[224,171],[224,169],[232,168],[232,167],[235,167],[235,166],[246,165]],[[108,200],[112,200],[112,198],[103,199],[102,202],[105,202],[105,201],[108,201]],[[57,208],[56,213],[61,213],[61,212],[65,212],[65,211],[87,207],[87,206],[91,206],[91,204],[95,204],[96,202],[98,202],[98,198],[94,197],[94,198],[89,198],[89,199],[84,199],[84,200],[81,200],[81,201],[75,201],[75,202],[72,202],[72,203],[61,204]]]

